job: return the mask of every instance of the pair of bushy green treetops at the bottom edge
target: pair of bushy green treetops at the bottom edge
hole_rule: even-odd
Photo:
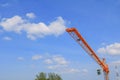
[[[46,73],[41,72],[36,75],[35,80],[62,80],[62,78],[60,77],[60,75],[55,73],[48,73],[48,75],[46,75]]]

